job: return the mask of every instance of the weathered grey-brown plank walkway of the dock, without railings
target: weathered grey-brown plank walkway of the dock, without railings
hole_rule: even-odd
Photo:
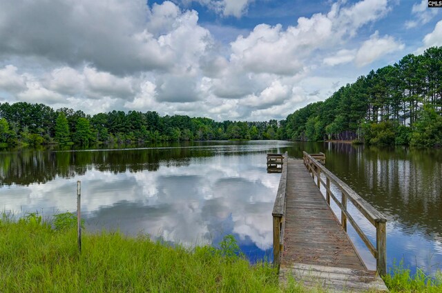
[[[330,292],[387,291],[376,271],[365,267],[302,160],[287,161],[285,192],[280,282],[291,274]]]

